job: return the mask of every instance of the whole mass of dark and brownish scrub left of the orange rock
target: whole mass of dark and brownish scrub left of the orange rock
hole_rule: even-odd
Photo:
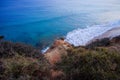
[[[43,54],[32,46],[0,41],[0,80],[47,80],[49,68]]]

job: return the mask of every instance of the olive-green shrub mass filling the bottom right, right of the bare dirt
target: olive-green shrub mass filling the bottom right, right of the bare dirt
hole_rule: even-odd
[[[120,52],[75,48],[56,64],[65,80],[120,80]]]

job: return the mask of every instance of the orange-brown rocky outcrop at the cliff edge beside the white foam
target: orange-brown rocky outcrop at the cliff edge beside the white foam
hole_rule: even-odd
[[[48,61],[54,65],[56,62],[61,60],[62,55],[67,54],[67,49],[72,46],[65,42],[64,39],[55,40],[53,45],[44,54]]]

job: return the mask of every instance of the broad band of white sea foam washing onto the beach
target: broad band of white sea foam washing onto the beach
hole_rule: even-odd
[[[106,31],[120,27],[120,20],[109,22],[102,25],[94,25],[85,29],[76,29],[69,32],[65,38],[65,41],[74,46],[84,46],[88,41],[105,33]]]

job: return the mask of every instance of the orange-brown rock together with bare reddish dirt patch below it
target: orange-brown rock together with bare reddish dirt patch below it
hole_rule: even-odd
[[[51,80],[59,79],[61,80],[64,73],[60,70],[56,70],[55,64],[61,61],[63,55],[67,55],[67,50],[70,49],[72,46],[65,42],[64,39],[55,40],[53,45],[47,50],[44,54],[46,59],[52,65],[53,69],[51,69]]]

